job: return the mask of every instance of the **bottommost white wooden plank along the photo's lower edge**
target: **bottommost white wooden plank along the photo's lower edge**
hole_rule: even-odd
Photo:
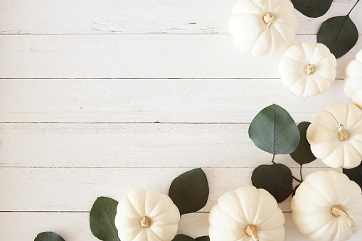
[[[284,215],[286,219],[284,225],[286,229],[285,240],[309,240],[295,227],[292,213],[284,213]],[[0,224],[1,240],[32,240],[44,230],[53,230],[62,235],[65,240],[98,240],[90,232],[89,213],[0,213]],[[21,227],[20,231],[19,227]],[[179,233],[191,237],[208,235],[208,213],[183,215],[179,223]],[[353,235],[349,241],[360,240],[362,240],[362,232]]]

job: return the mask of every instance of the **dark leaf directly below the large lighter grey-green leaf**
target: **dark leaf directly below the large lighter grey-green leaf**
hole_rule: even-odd
[[[252,171],[252,185],[263,188],[281,203],[293,192],[292,171],[283,164],[261,165]]]

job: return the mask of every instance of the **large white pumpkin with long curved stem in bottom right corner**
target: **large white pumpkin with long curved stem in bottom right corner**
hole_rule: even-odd
[[[311,240],[348,240],[362,225],[361,188],[344,173],[309,174],[292,199],[292,219]]]

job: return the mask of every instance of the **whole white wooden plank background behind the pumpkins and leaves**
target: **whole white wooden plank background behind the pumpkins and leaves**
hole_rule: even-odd
[[[320,24],[356,0],[334,1],[321,18],[298,13],[296,43],[316,41]],[[235,0],[0,1],[0,240],[33,240],[53,230],[68,241],[97,240],[89,210],[97,196],[133,188],[167,193],[171,181],[203,167],[211,193],[180,232],[208,234],[218,197],[250,185],[271,156],[247,136],[263,107],[282,105],[297,122],[334,102],[351,102],[338,60],[331,90],[315,98],[282,85],[280,55],[240,53],[228,34]],[[362,32],[362,4],[351,18]],[[297,165],[289,156],[277,162]],[[326,169],[321,161],[304,176]],[[144,183],[145,176],[150,179]],[[285,240],[308,240],[291,220]],[[362,232],[351,240],[362,240]],[[225,240],[227,241],[227,240]]]

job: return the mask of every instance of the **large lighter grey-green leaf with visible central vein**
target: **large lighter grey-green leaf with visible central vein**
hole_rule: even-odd
[[[260,111],[249,127],[249,137],[255,146],[273,155],[289,154],[299,144],[299,130],[290,114],[279,105]]]

